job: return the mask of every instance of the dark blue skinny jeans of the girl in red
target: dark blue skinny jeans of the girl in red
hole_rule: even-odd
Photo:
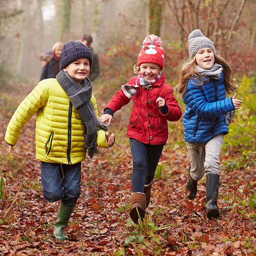
[[[154,179],[154,173],[163,151],[163,146],[145,144],[130,138],[131,154],[133,157],[133,171],[131,176],[132,192],[144,192],[144,184]]]

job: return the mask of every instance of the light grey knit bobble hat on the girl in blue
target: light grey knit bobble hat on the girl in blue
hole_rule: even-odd
[[[205,37],[199,29],[195,29],[189,34],[189,58],[194,58],[198,50],[209,47],[215,53],[214,44],[212,41]]]

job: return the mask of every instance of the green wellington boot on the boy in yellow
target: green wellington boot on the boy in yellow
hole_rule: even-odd
[[[53,229],[53,235],[56,239],[61,241],[68,240],[68,236],[66,235],[64,228],[67,227],[73,209],[74,207],[69,207],[62,203],[60,204],[57,220]]]

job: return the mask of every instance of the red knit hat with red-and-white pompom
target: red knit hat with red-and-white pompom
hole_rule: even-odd
[[[137,66],[145,62],[153,62],[160,66],[163,70],[164,64],[164,49],[162,39],[157,35],[148,35],[143,41],[142,49],[140,50]]]

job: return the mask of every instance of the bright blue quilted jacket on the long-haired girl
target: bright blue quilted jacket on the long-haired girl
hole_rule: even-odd
[[[207,80],[198,86],[197,80],[190,79],[183,96],[186,105],[184,136],[185,141],[190,143],[204,143],[217,134],[227,134],[225,113],[235,109],[232,97],[226,99],[223,74],[219,80]]]

